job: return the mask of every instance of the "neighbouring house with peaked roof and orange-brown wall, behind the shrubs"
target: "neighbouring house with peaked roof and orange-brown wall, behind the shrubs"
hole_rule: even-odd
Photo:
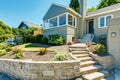
[[[36,28],[36,30],[34,30],[34,32],[33,32],[34,35],[43,34],[43,27],[42,26],[36,25],[33,23],[29,23],[26,21],[22,21],[18,28],[28,29],[28,28],[32,28],[32,27]]]

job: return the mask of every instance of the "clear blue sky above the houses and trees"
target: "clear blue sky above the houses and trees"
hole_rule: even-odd
[[[87,8],[100,0],[87,0]],[[18,27],[21,21],[43,24],[43,17],[52,3],[69,6],[70,0],[0,0],[0,21]]]

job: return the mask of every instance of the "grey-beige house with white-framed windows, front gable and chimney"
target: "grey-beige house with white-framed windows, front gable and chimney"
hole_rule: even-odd
[[[80,14],[70,7],[52,4],[43,17],[44,35],[59,34],[66,42],[82,38],[86,34],[99,37],[107,34],[109,19],[120,17],[120,4],[87,13],[86,0],[80,0]]]

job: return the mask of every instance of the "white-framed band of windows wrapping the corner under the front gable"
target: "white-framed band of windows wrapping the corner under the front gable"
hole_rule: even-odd
[[[74,17],[70,13],[64,13],[44,21],[45,29],[61,27],[66,25],[75,27],[76,17]]]

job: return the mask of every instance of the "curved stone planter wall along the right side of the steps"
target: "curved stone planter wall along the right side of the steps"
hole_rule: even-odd
[[[99,64],[103,66],[103,69],[111,70],[114,68],[114,58],[111,54],[106,56],[98,56],[92,52],[89,52],[90,56],[93,57]]]

